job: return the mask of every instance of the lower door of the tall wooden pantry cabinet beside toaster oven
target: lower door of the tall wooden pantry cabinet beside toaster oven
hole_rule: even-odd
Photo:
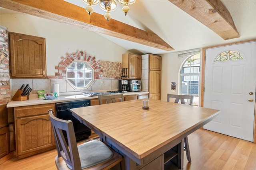
[[[161,71],[149,71],[149,98],[160,100]]]

